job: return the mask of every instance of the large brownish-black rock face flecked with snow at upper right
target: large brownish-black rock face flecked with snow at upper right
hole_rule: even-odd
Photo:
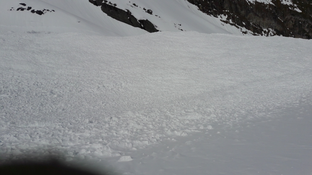
[[[221,21],[238,29],[245,27],[253,35],[312,39],[312,0],[292,0],[295,6],[282,4],[281,0],[272,0],[273,4],[246,0],[187,1],[208,15],[223,17]]]

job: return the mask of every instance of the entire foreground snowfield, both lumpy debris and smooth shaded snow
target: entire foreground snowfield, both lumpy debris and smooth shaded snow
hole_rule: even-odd
[[[311,175],[311,48],[278,36],[1,32],[0,160]]]

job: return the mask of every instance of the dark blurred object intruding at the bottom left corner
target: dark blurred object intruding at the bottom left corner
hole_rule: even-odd
[[[57,161],[0,165],[0,175],[97,175]]]

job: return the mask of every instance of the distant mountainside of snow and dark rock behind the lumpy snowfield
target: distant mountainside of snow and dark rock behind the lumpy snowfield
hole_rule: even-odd
[[[3,0],[0,8],[1,31],[312,36],[312,5],[308,0]]]

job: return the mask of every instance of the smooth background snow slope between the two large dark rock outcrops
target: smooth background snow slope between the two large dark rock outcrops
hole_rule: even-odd
[[[53,0],[45,1],[56,3]],[[185,0],[112,0],[109,2],[116,4],[117,8],[128,9],[139,20],[148,19],[157,26],[156,29],[159,31],[236,32],[235,34],[242,35],[236,27],[204,14],[198,7]],[[151,10],[152,14],[149,14],[148,10]]]

